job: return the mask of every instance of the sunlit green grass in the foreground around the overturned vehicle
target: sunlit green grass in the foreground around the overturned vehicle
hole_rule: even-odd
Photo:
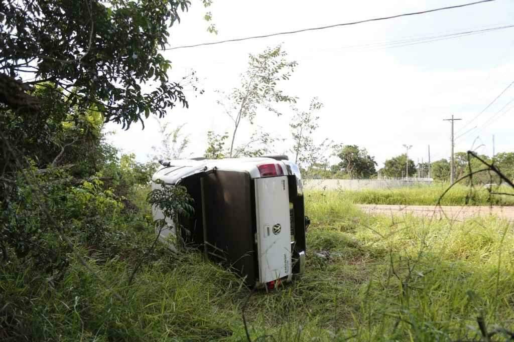
[[[22,329],[62,341],[246,340],[245,303],[252,341],[479,340],[477,317],[488,332],[514,328],[508,222],[392,221],[363,214],[338,192],[305,201],[313,222],[305,276],[248,302],[240,280],[198,253],[165,253],[130,287],[123,259],[90,257],[107,286],[76,262],[57,287],[33,289],[26,275],[4,270],[2,317],[25,311],[31,321]]]

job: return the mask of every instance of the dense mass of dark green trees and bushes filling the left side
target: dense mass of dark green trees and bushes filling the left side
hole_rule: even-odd
[[[136,167],[133,156],[117,165],[102,123],[128,129],[151,113],[161,118],[176,104],[188,105],[186,78],[170,82],[170,61],[159,53],[188,6],[188,0],[0,3],[3,261],[14,249],[23,259],[17,264],[34,267],[34,279],[50,280],[51,264],[63,269],[75,259],[75,244],[115,250],[108,244],[125,233],[118,235],[112,215],[129,210],[119,190],[148,183],[150,170]]]

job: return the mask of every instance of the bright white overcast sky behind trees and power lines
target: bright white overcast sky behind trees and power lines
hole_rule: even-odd
[[[470,1],[214,0],[209,8],[219,31],[214,35],[206,31],[206,9],[195,1],[190,11],[181,16],[181,23],[171,29],[170,45],[325,26],[466,2]],[[496,153],[514,151],[514,111],[500,113],[484,126],[514,99],[514,86],[470,122],[514,81],[514,28],[404,47],[347,48],[509,24],[514,24],[514,2],[497,0],[381,22],[165,51],[164,56],[173,65],[170,80],[178,80],[193,69],[205,93],[188,92],[189,109],[175,108],[163,120],[173,126],[186,123],[183,131],[192,141],[189,153],[203,155],[208,130],[230,130],[231,121],[216,104],[219,96],[215,90],[230,91],[240,84],[238,75],[245,71],[249,53],[282,43],[289,58],[299,63],[282,88],[299,97],[300,108],[306,108],[315,96],[325,105],[319,113],[319,141],[329,138],[365,147],[379,167],[386,159],[403,153],[402,144],[413,145],[409,156],[414,161],[426,161],[430,145],[431,159],[435,161],[450,154],[450,124],[443,119],[453,114],[463,119],[455,122],[455,136],[478,126],[455,141],[455,151],[483,144],[478,151],[490,155],[492,135]],[[291,116],[291,111],[277,118],[262,110],[258,124],[288,138]],[[462,129],[464,125],[467,126]],[[151,146],[159,144],[159,136],[154,120],[146,120],[145,126],[141,130],[139,124],[134,124],[123,131],[108,124],[107,130],[116,131],[109,139],[124,152],[135,153],[138,160],[148,160]],[[241,141],[245,130],[243,127],[239,134]],[[288,148],[280,146],[277,152]]]

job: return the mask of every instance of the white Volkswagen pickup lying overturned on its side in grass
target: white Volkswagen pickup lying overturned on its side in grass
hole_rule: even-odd
[[[300,170],[286,156],[159,162],[152,187],[182,185],[194,199],[193,216],[161,231],[172,247],[180,241],[203,250],[250,287],[271,289],[304,273],[309,221]],[[153,216],[162,213],[154,208]]]

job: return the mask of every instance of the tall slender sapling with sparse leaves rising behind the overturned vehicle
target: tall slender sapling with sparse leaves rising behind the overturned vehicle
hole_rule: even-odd
[[[278,87],[281,81],[289,79],[297,66],[297,62],[288,61],[286,57],[287,53],[280,45],[256,55],[250,54],[248,70],[241,75],[241,86],[234,88],[225,100],[218,101],[233,122],[229,157],[233,157],[235,137],[243,120],[253,124],[259,107],[281,115],[274,104],[296,101]]]

